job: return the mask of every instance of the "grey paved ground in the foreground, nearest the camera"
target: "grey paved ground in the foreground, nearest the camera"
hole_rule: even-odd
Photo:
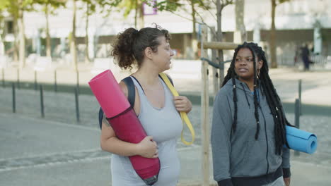
[[[13,113],[0,113],[0,118],[1,186],[111,185],[110,154],[100,150],[100,130]],[[199,185],[201,147],[180,147],[178,152],[178,186]],[[293,159],[291,185],[330,185],[330,164]],[[214,182],[212,176],[210,180]]]

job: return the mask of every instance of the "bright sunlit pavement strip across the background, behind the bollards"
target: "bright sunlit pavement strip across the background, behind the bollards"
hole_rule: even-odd
[[[228,66],[228,63],[226,65]],[[122,80],[122,78],[130,74],[129,70],[120,70],[115,64],[111,64],[110,69],[112,69],[112,73],[114,73],[117,80]],[[16,82],[18,80],[18,70],[16,68],[6,68],[4,73],[7,81]],[[201,61],[173,60],[172,68],[166,71],[166,73],[173,78],[178,92],[192,95],[200,94],[202,88]],[[95,75],[92,64],[79,63],[80,86],[88,87],[88,81]],[[308,72],[303,72],[296,67],[279,67],[277,69],[269,69],[269,75],[284,103],[294,103],[295,99],[298,98],[298,80],[301,79],[302,104],[331,106],[331,97],[329,96],[329,92],[331,92],[331,69],[315,68]],[[76,77],[76,73],[71,68],[57,66],[58,85],[76,85]],[[210,95],[213,95],[213,78],[211,73],[209,77],[209,91]],[[29,66],[23,68],[19,72],[19,79],[21,82],[33,83],[35,81],[33,68]],[[54,68],[37,72],[37,82],[54,84]]]

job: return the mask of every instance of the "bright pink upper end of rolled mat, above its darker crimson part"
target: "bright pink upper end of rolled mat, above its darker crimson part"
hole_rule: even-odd
[[[130,107],[129,101],[127,101],[110,70],[105,70],[93,77],[88,85],[90,85],[107,118],[117,116]]]

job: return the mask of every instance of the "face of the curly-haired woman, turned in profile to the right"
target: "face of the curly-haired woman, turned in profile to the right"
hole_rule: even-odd
[[[153,62],[160,68],[161,72],[170,68],[171,58],[173,57],[173,50],[170,48],[169,42],[164,36],[158,37],[160,45],[158,51],[153,53]]]

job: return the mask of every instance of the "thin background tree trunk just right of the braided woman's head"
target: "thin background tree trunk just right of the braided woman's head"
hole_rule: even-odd
[[[276,11],[276,0],[272,1],[272,25],[270,30],[270,55],[271,55],[271,68],[277,68],[277,55],[276,55],[276,27],[274,25],[274,15]]]

